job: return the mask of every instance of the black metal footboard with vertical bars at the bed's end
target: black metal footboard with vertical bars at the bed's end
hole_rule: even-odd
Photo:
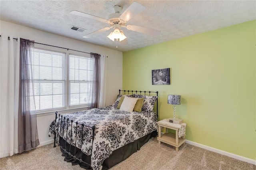
[[[68,123],[71,123],[71,133],[70,134],[68,134]],[[86,134],[85,132],[84,132],[84,130],[86,130],[86,129],[84,129],[84,127],[88,127],[88,128],[91,128],[92,129],[92,143],[93,143],[93,140],[94,140],[94,132],[95,132],[95,126],[92,126],[92,127],[90,127],[90,126],[87,126],[87,125],[84,125],[83,123],[82,124],[80,124],[80,123],[78,123],[78,122],[76,122],[75,124],[76,124],[76,130],[75,130],[75,134],[73,134],[73,126],[72,126],[72,124],[73,124],[73,120],[70,120],[70,119],[68,119],[68,118],[66,118],[66,117],[64,117],[63,115],[60,115],[60,114],[58,114],[58,112],[55,112],[55,126],[56,125],[58,125],[58,127],[57,127],[57,129],[56,130],[54,130],[54,146],[53,147],[56,147],[56,142],[58,143],[58,146],[60,146],[60,148],[64,151],[64,152],[66,152],[69,156],[72,156],[73,158],[75,158],[76,160],[78,160],[79,162],[83,162],[83,163],[85,163],[85,164],[87,164],[88,166],[90,166],[90,168],[92,169],[92,167],[91,167],[91,165],[90,165],[90,163],[88,163],[88,162],[85,162],[84,160],[82,160],[82,149],[79,149],[79,151],[81,152],[81,156],[80,156],[80,158],[78,158],[77,156],[76,156],[76,149],[78,150],[78,147],[77,147],[77,141],[76,141],[76,138],[77,138],[77,135],[79,135],[79,134],[77,134],[77,132],[78,132],[78,126],[81,126],[82,127],[82,132],[81,132],[81,135],[82,136],[80,136],[80,138],[82,139],[82,144],[83,144],[83,139],[84,139],[84,134]],[[65,140],[65,139],[63,139],[64,138],[64,128],[65,128],[65,123],[66,123],[66,139],[68,138],[68,137],[70,137],[70,144],[67,142],[67,140]],[[62,128],[62,124],[63,124],[63,128]],[[60,125],[60,126],[59,126]],[[60,128],[59,128],[60,127]],[[59,131],[60,130],[60,131]],[[62,132],[62,136],[61,136],[61,132]],[[68,136],[68,135],[70,135],[70,136]],[[75,144],[72,144],[72,137],[75,135]],[[64,142],[65,142],[65,144],[64,144]],[[71,145],[72,146],[74,146],[74,154],[72,154],[71,152],[70,152],[70,150],[71,150]],[[65,146],[65,147],[63,147],[63,146]],[[67,146],[69,146],[69,149],[66,149],[67,148]]]

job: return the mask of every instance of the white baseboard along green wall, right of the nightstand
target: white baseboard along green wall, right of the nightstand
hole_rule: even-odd
[[[216,148],[212,148],[210,146],[206,146],[206,145],[203,145],[203,144],[199,144],[199,143],[196,143],[196,142],[192,142],[190,140],[186,140],[185,141],[186,143],[188,144],[191,144],[191,145],[194,145],[194,146],[198,146],[199,148],[203,148],[203,149],[206,149],[206,150],[210,150],[212,152],[216,152],[216,153],[219,153],[219,154],[222,154],[222,155],[225,155],[225,156],[229,156],[231,158],[235,158],[235,159],[238,159],[238,160],[241,160],[241,161],[244,161],[244,162],[248,162],[250,164],[254,164],[256,165],[256,160],[253,160],[253,159],[250,159],[250,158],[246,158],[246,157],[243,157],[243,156],[239,156],[239,155],[236,155],[236,154],[232,154],[230,152],[226,152],[226,151],[223,151],[223,150],[219,150],[219,149],[216,149]]]

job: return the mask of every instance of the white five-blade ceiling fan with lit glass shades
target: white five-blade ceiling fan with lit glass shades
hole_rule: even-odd
[[[121,28],[127,28],[128,30],[131,31],[136,31],[136,32],[141,32],[144,34],[148,34],[150,36],[158,36],[160,31],[158,30],[154,30],[154,29],[149,29],[149,28],[144,28],[144,27],[140,27],[140,26],[134,26],[134,25],[126,25],[126,23],[132,19],[132,17],[136,16],[137,14],[139,14],[140,12],[144,11],[146,8],[144,6],[142,6],[141,4],[139,4],[138,2],[133,2],[122,14],[120,13],[122,10],[122,7],[119,5],[115,5],[114,6],[114,14],[110,14],[108,16],[108,20],[105,18],[101,18],[98,16],[94,16],[91,14],[86,14],[84,12],[79,12],[79,11],[71,11],[70,14],[73,15],[77,15],[77,16],[83,16],[86,18],[91,18],[94,20],[98,20],[101,22],[106,22],[108,23],[110,26],[109,27],[105,27],[102,28],[100,30],[96,30],[94,32],[91,32],[85,36],[83,36],[83,38],[90,38],[92,37],[94,34],[98,34],[104,31],[108,31],[111,28],[114,28],[114,31],[111,32],[107,37],[112,40],[112,41],[119,41],[121,42],[122,40],[126,39],[126,36],[124,35],[124,32],[121,30]],[[126,41],[127,43],[127,41]]]

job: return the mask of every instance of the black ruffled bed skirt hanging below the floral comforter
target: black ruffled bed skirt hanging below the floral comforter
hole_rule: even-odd
[[[108,158],[106,158],[102,164],[102,170],[108,170],[115,166],[116,164],[122,162],[123,160],[126,160],[129,156],[137,152],[137,150],[140,150],[140,148],[148,142],[148,140],[152,137],[157,136],[157,132],[154,131],[146,136],[143,136],[139,138],[138,140],[126,144],[125,146],[122,146],[121,148],[118,148],[112,152],[112,155],[110,155]],[[88,156],[84,154],[80,149],[75,148],[74,146],[70,146],[68,142],[65,142],[65,140],[62,140],[60,137],[60,145],[62,148],[60,148],[60,151],[62,152],[62,156],[65,156],[64,161],[72,162],[72,165],[79,164],[80,167],[85,169],[91,169],[91,167],[88,164],[91,164],[91,156]],[[82,160],[84,162],[87,162],[88,164],[85,164],[84,162],[80,162],[79,160],[76,160],[73,158],[73,156],[69,155],[64,151],[66,149],[67,152],[70,152],[72,155],[75,155],[76,158],[80,159],[82,156]]]

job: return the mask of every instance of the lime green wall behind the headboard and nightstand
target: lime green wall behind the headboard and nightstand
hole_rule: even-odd
[[[256,160],[256,20],[123,53],[123,89],[159,91],[159,120],[172,117],[186,139]],[[171,85],[151,70],[171,68]]]

